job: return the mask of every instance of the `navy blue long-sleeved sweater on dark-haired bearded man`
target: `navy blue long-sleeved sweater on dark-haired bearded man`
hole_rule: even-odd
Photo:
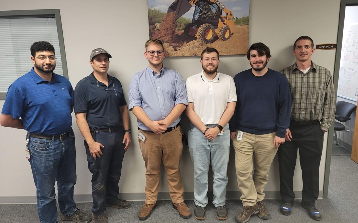
[[[241,130],[256,135],[276,132],[284,138],[290,126],[291,92],[287,78],[269,69],[257,77],[251,69],[234,77],[237,103],[229,121],[230,132]]]

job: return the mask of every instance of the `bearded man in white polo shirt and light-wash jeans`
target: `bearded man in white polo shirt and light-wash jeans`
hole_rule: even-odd
[[[220,220],[227,219],[225,207],[230,131],[228,122],[237,101],[233,78],[219,73],[219,52],[207,47],[201,54],[203,71],[187,79],[185,86],[190,120],[189,151],[194,164],[194,216],[205,219],[208,204],[208,171],[214,172],[213,204]]]

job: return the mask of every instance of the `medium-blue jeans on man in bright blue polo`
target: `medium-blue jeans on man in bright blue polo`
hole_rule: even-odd
[[[76,184],[76,148],[73,131],[64,140],[28,137],[30,165],[36,186],[37,211],[40,223],[57,222],[55,181],[62,214],[76,212],[73,187]]]

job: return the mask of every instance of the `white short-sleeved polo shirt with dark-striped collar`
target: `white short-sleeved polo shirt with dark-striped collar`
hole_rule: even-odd
[[[237,101],[234,79],[217,72],[213,80],[205,77],[204,71],[185,82],[188,102],[194,103],[194,111],[204,125],[217,124],[228,102]]]

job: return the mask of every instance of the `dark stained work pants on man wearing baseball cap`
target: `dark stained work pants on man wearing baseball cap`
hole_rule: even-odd
[[[121,177],[122,161],[124,157],[125,144],[122,143],[124,129],[120,128],[114,132],[96,132],[94,140],[101,143],[103,155],[95,160],[86,148],[88,169],[92,173],[92,198],[94,214],[103,214],[106,209],[106,200],[118,198],[118,182]]]

